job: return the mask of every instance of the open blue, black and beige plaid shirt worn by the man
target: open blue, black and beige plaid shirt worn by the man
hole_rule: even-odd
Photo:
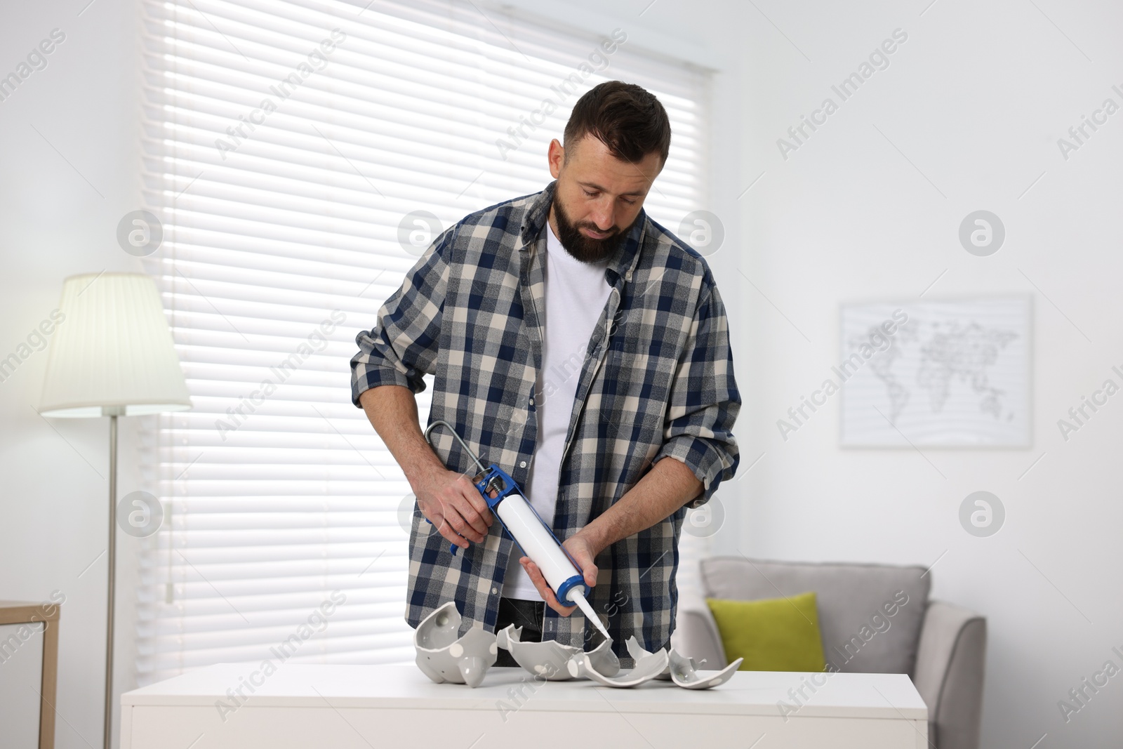
[[[356,338],[351,394],[394,384],[414,393],[435,375],[430,422],[445,420],[480,456],[524,485],[538,437],[545,320],[544,227],[556,182],[542,192],[471,213],[436,238]],[[590,596],[608,616],[614,649],[665,647],[675,629],[678,538],[687,508],[706,502],[738,464],[725,310],[705,262],[642,212],[610,258],[609,301],[585,351],[563,454],[554,533],[565,539],[608,510],[660,458],[683,462],[699,497],[596,557]],[[433,431],[451,471],[474,475],[448,430]],[[405,619],[417,627],[455,600],[464,627],[494,631],[508,557],[502,524],[454,557],[414,506]],[[595,628],[581,610],[548,606],[542,639],[581,646]]]

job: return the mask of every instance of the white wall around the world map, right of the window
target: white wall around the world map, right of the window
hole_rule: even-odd
[[[924,566],[946,551],[933,595],[989,627],[984,746],[1029,748],[1044,733],[1041,747],[1117,746],[1123,679],[1068,724],[1057,703],[1108,658],[1123,666],[1111,652],[1123,646],[1123,405],[1110,403],[1068,442],[1057,420],[1123,362],[1113,293],[1123,115],[1067,162],[1056,141],[1105,97],[1123,103],[1111,91],[1123,83],[1123,8],[939,0],[925,11],[930,2],[767,0],[727,21],[745,35],[743,183],[765,172],[739,203],[750,227],[739,263],[772,300],[743,286],[740,435],[747,463],[765,456],[741,479],[740,546]],[[838,101],[830,85],[896,28],[909,39],[891,66],[785,161],[777,138],[824,97]],[[1006,226],[990,257],[957,239],[977,209]],[[842,450],[837,396],[785,442],[777,419],[838,362],[839,302],[916,299],[944,270],[924,299],[1033,295],[1032,448],[925,450],[939,471],[911,449]],[[1007,511],[989,538],[958,522],[976,490]]]

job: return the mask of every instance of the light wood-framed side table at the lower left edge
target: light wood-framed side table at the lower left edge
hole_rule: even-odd
[[[0,601],[0,694],[4,746],[54,749],[55,685],[58,677],[60,605],[30,601]],[[38,641],[37,641],[38,640]],[[42,652],[42,657],[35,658]],[[28,695],[29,691],[35,695]],[[25,705],[37,706],[25,714]],[[35,722],[38,722],[38,742]],[[13,743],[9,745],[9,741]],[[15,743],[18,742],[18,743]]]

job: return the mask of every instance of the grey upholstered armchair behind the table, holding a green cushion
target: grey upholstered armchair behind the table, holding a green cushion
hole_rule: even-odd
[[[752,601],[814,591],[829,670],[907,674],[928,704],[937,749],[977,749],[983,714],[986,620],[929,601],[923,567],[806,564],[714,557],[701,591],[681,591],[673,645],[707,668],[725,658],[705,597]]]

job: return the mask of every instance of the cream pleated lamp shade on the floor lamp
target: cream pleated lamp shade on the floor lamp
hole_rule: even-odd
[[[140,273],[63,283],[39,400],[45,417],[143,415],[191,408],[159,292]]]

